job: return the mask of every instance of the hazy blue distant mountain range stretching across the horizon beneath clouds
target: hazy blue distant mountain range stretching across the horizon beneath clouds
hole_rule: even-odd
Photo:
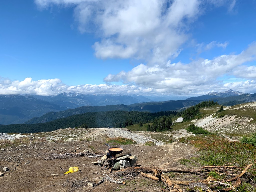
[[[0,95],[0,124],[48,122],[75,114],[98,111],[181,111],[204,100],[234,105],[255,101],[256,94],[228,90],[186,100],[158,102],[134,94],[84,95],[70,92],[57,96]]]

